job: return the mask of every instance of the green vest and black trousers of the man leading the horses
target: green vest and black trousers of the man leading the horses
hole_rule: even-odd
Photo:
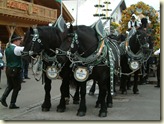
[[[21,89],[21,71],[22,71],[22,60],[20,56],[14,54],[16,46],[9,45],[5,49],[6,54],[6,76],[7,76],[7,90],[10,92],[13,89],[11,103],[16,102],[16,98],[19,90]]]

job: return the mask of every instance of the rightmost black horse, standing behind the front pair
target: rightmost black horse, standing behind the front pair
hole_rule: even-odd
[[[130,31],[130,36],[126,41],[122,42],[121,55],[121,86],[120,90],[123,94],[127,93],[127,83],[130,81],[131,74],[134,74],[133,93],[138,94],[138,74],[144,63],[148,60],[152,53],[152,41],[143,29]],[[150,47],[151,46],[151,47]]]

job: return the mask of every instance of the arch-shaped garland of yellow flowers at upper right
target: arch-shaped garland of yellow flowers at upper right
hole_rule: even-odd
[[[144,16],[149,17],[149,20],[151,21],[150,27],[152,29],[151,34],[153,34],[151,36],[153,36],[154,39],[154,49],[156,50],[160,48],[160,22],[158,21],[158,13],[153,7],[143,2],[132,4],[130,7],[123,10],[120,31],[122,33],[125,33],[127,31],[128,22],[131,19],[131,15],[133,13],[140,18]]]

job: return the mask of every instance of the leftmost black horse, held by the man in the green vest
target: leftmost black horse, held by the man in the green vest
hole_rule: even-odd
[[[24,52],[23,56],[28,58],[27,56],[36,57],[37,55],[41,56],[43,62],[43,74],[42,81],[45,83],[45,98],[42,104],[42,111],[49,111],[51,108],[51,75],[48,75],[48,67],[50,69],[59,68],[55,65],[55,50],[58,48],[65,37],[67,37],[67,33],[65,30],[67,29],[66,25],[64,26],[63,32],[58,27],[50,27],[50,26],[38,26],[36,28],[30,28],[24,37],[23,46]],[[60,71],[60,77],[62,78],[62,85],[60,87],[61,90],[61,100],[62,101],[62,111],[65,110],[66,100],[69,98],[69,81],[71,80],[71,69],[69,67],[69,61],[64,65],[62,71]],[[54,72],[53,72],[54,73]],[[55,72],[57,73],[57,72]]]

